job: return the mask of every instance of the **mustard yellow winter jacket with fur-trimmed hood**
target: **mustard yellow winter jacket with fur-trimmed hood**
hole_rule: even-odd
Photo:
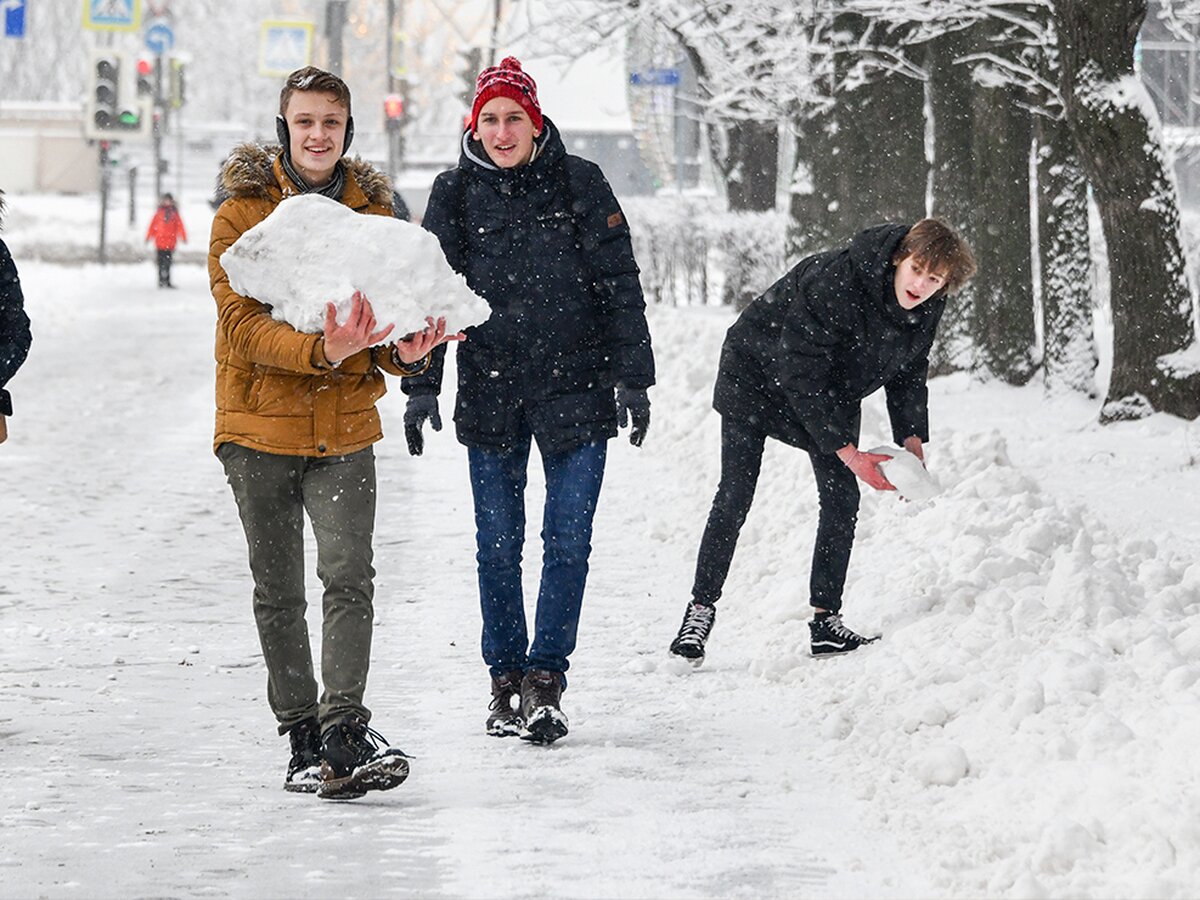
[[[370,163],[346,160],[342,203],[358,212],[391,215],[391,186]],[[229,287],[221,266],[239,236],[283,200],[300,193],[283,172],[278,148],[244,144],[220,180],[227,199],[212,220],[209,281],[217,304],[216,433],[212,448],[233,442],[284,456],[341,456],[383,437],[376,402],[384,372],[412,374],[391,344],[354,354],[334,368],[320,335],[271,318],[270,307]]]

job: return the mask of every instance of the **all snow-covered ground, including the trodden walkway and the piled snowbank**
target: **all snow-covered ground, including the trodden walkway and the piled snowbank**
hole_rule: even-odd
[[[1200,894],[1200,425],[1102,430],[1091,401],[935,382],[946,492],[865,498],[846,616],[884,640],[822,661],[815,488],[773,445],[691,671],[666,644],[730,316],[655,310],[654,419],[610,455],[571,733],[535,748],[482,733],[463,451],[448,430],[409,457],[396,390],[367,700],[415,760],[331,804],[280,786],[203,269],[160,292],[149,262],[17,259],[35,346],[0,448],[0,896]],[[864,422],[886,443],[881,403]]]

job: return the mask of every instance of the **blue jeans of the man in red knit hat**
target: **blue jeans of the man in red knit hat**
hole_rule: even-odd
[[[493,676],[529,668],[566,672],[580,626],[592,553],[592,518],[608,449],[607,442],[598,440],[566,452],[542,455],[546,506],[541,526],[541,584],[530,644],[521,590],[529,444],[530,437],[526,434],[506,452],[474,446],[467,452],[475,498],[484,661]]]

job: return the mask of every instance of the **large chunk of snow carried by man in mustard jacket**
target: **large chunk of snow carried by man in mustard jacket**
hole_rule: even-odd
[[[328,302],[346,322],[355,290],[371,301],[377,330],[396,325],[385,341],[421,330],[426,316],[445,316],[452,334],[488,314],[424,228],[314,193],[283,200],[221,254],[221,265],[234,290],[296,331],[324,331]]]

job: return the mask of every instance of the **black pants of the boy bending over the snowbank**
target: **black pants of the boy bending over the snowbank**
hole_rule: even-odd
[[[721,481],[700,541],[696,582],[691,589],[694,600],[713,604],[721,596],[738,534],[754,500],[766,443],[767,436],[748,422],[728,416],[721,419]],[[809,458],[821,502],[809,575],[809,602],[838,612],[858,524],[858,479],[834,454],[810,450]]]

